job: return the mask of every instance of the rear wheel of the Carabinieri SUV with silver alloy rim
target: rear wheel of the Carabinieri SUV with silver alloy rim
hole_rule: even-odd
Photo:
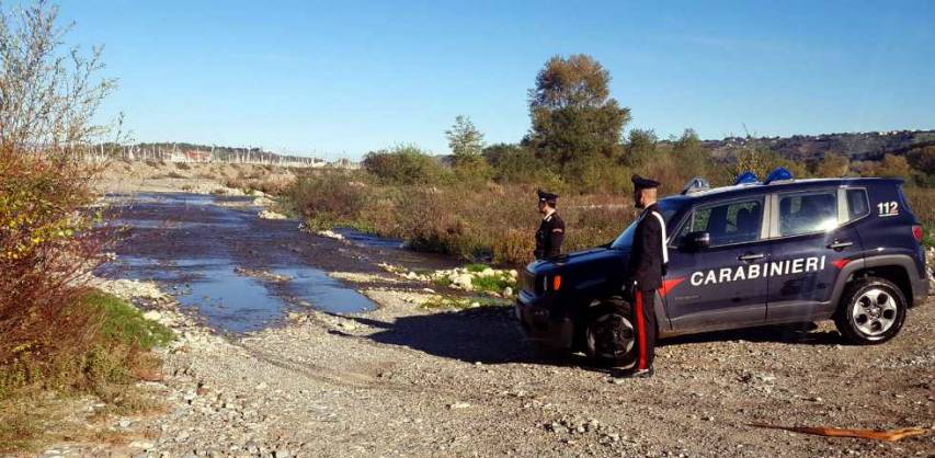
[[[881,344],[902,329],[907,306],[905,297],[892,282],[860,278],[844,289],[834,324],[848,343]]]

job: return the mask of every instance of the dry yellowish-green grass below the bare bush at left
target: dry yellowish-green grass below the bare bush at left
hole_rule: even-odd
[[[83,425],[161,410],[136,381],[139,374],[159,371],[159,358],[148,351],[171,340],[171,331],[98,291],[84,294],[73,308],[91,318],[81,346],[46,354],[24,350],[0,365],[0,453],[30,451],[53,440],[119,443],[121,434]],[[85,422],[76,403],[89,396],[105,407]]]

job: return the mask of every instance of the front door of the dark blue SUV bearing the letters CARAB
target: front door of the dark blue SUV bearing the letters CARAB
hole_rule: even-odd
[[[759,265],[768,228],[765,195],[699,205],[686,216],[670,248],[662,288],[676,333],[739,328],[766,318],[767,284]],[[707,248],[691,248],[689,233],[707,232]],[[756,271],[756,272],[752,272]]]

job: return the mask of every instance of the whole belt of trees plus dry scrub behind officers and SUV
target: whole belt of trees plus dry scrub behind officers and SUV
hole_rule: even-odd
[[[538,221],[536,188],[561,195],[565,248],[572,251],[609,242],[629,224],[632,173],[660,180],[663,193],[681,191],[694,176],[723,185],[742,171],[765,178],[776,167],[798,178],[862,174],[932,183],[930,149],[853,163],[830,152],[809,162],[748,138],[716,157],[692,129],[670,139],[625,130],[630,110],[611,96],[609,81],[590,56],[554,57],[536,75],[529,131],[515,144],[486,145],[470,118],[458,116],[445,133],[452,156],[444,160],[417,145],[397,145],[366,154],[360,171],[309,172],[286,195],[313,227],[352,226],[420,250],[523,264],[532,257]],[[931,196],[911,194],[923,208],[935,206]]]

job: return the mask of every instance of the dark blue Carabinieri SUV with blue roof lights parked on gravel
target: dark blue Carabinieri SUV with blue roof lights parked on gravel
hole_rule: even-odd
[[[794,180],[777,169],[732,186],[694,179],[659,201],[669,264],[657,290],[661,337],[833,319],[843,337],[877,344],[925,301],[922,226],[897,179]],[[544,350],[596,363],[634,359],[625,293],[636,224],[607,245],[526,266],[516,314]]]

